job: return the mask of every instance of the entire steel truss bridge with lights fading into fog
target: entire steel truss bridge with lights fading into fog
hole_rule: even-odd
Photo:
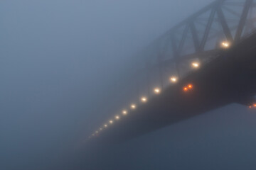
[[[133,101],[87,142],[122,142],[230,103],[256,110],[255,9],[253,0],[214,1],[154,40],[138,55]]]

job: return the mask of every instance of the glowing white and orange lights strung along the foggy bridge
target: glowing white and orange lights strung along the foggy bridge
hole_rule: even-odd
[[[229,42],[222,42],[221,43],[221,47],[223,47],[223,48],[228,48],[230,46],[230,44],[229,44]],[[191,62],[191,67],[193,68],[193,69],[198,69],[199,67],[200,67],[200,63],[199,62]],[[171,83],[176,83],[177,81],[178,81],[178,77],[170,77],[170,81],[171,81]],[[188,84],[187,86],[184,86],[183,87],[183,91],[190,91],[191,89],[193,89],[193,85],[192,84]],[[158,87],[156,87],[155,89],[154,89],[154,94],[160,94],[161,93],[161,89],[160,88],[158,88]],[[142,102],[142,103],[146,103],[147,101],[148,101],[148,98],[146,98],[146,96],[142,96],[142,98],[140,98],[140,101]],[[256,107],[256,103],[253,105],[254,107]],[[132,103],[131,104],[131,106],[130,106],[130,108],[131,108],[131,110],[134,110],[134,109],[136,109],[137,108],[137,106],[136,106],[136,104],[135,103]],[[249,106],[249,108],[252,108],[252,106]],[[125,115],[127,115],[128,114],[128,111],[127,110],[123,110],[122,111],[122,115],[123,116],[125,116]],[[93,133],[92,134],[92,136],[95,136],[95,135],[97,135],[100,131],[102,131],[104,128],[106,129],[109,125],[112,125],[113,123],[114,123],[114,120],[119,120],[121,118],[121,116],[120,115],[116,115],[115,117],[114,117],[114,119],[112,119],[112,120],[109,120],[109,122],[108,123],[106,123],[105,125],[103,125],[103,127],[102,128],[100,128],[99,130],[97,130],[97,131],[95,131],[95,133]],[[90,137],[92,137],[92,136],[90,136]],[[90,138],[89,137],[89,138]]]

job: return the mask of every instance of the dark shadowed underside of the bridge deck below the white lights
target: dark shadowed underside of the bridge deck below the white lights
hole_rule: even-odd
[[[193,89],[183,91],[188,84]],[[252,34],[229,50],[220,50],[215,60],[169,86],[90,142],[114,144],[230,103],[249,106],[255,94],[256,34]]]

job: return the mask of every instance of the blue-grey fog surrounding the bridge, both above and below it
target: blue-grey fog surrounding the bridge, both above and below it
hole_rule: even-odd
[[[256,117],[235,104],[127,142],[108,159],[75,154],[124,104],[112,94],[140,67],[137,52],[210,2],[0,1],[0,169],[255,166]]]

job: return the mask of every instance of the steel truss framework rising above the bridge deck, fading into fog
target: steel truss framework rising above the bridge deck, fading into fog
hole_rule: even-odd
[[[164,86],[166,69],[182,77],[189,72],[191,60],[209,62],[222,50],[221,42],[233,45],[255,29],[255,7],[254,0],[217,0],[202,8],[146,47],[142,56],[147,74],[159,72],[156,75]]]

